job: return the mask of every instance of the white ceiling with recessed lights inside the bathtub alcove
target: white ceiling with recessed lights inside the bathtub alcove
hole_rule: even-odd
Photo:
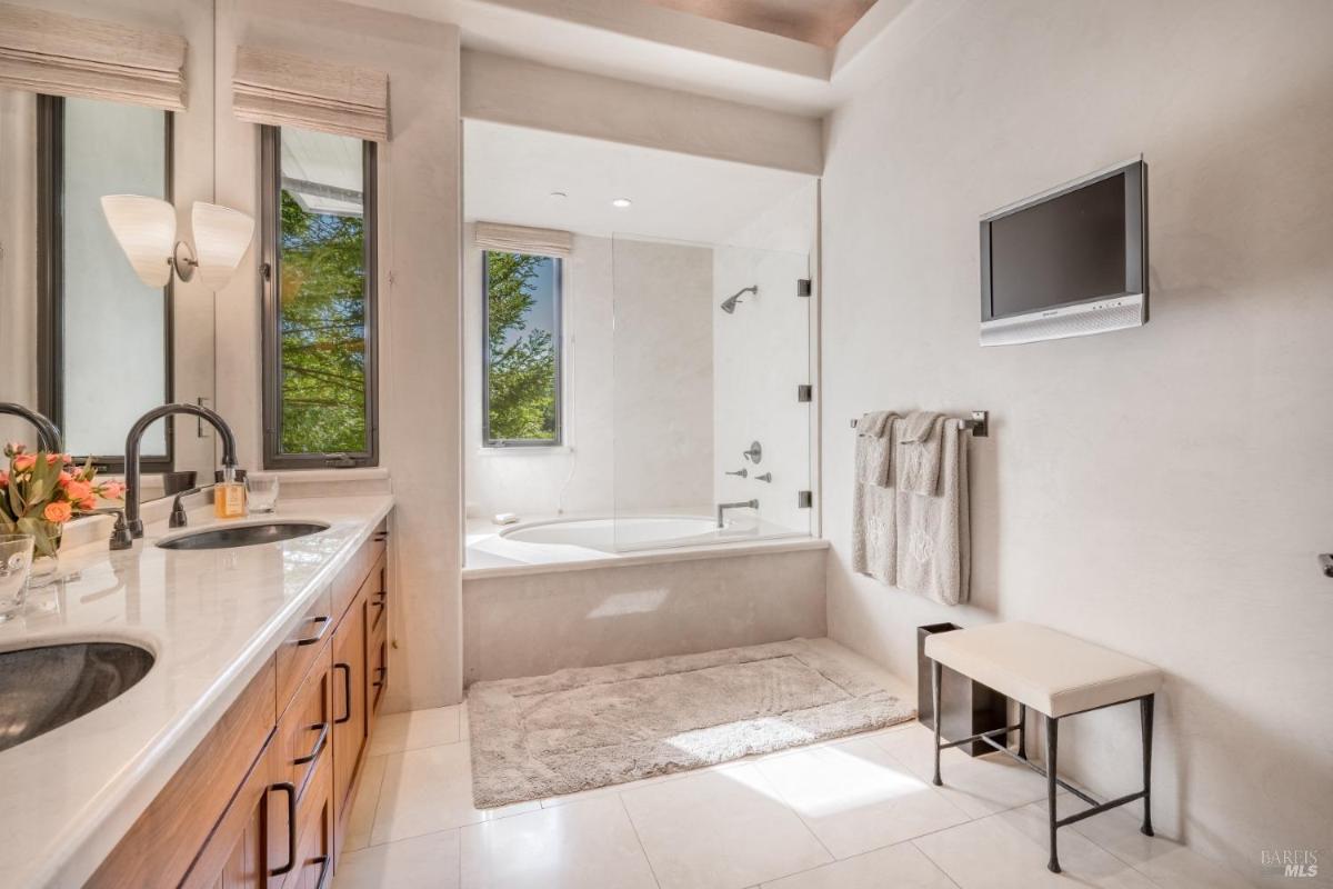
[[[481,120],[464,123],[469,221],[710,244],[812,187],[810,176]],[[552,197],[564,192],[564,199]],[[627,197],[628,208],[612,201]]]

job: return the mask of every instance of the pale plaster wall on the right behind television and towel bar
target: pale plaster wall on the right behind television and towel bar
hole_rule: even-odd
[[[1154,822],[1256,880],[1333,825],[1330,33],[1322,0],[914,4],[826,128],[830,634],[908,677],[944,620],[1161,665]],[[977,216],[1138,152],[1150,324],[978,348]],[[848,417],[916,405],[992,412],[970,608],[848,570]],[[1137,718],[1074,720],[1061,765],[1134,789]]]

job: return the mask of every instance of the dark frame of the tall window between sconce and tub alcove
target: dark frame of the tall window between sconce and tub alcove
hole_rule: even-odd
[[[367,450],[284,453],[283,373],[277,292],[281,283],[281,128],[260,125],[260,292],[263,295],[261,376],[265,469],[353,469],[380,465],[379,375],[379,147],[361,140],[361,201],[365,232],[365,433]]]

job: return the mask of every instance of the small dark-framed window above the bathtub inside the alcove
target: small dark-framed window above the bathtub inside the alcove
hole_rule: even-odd
[[[561,261],[485,251],[483,268],[485,445],[559,445]]]

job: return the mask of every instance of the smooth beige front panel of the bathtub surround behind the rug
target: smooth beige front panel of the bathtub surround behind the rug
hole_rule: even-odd
[[[465,569],[465,681],[822,637],[826,552],[800,538]]]

